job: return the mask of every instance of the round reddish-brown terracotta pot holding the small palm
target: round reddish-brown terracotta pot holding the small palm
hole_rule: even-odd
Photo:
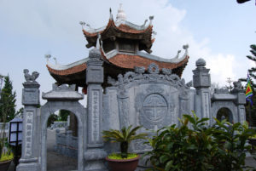
[[[139,159],[139,155],[135,158],[119,160],[106,157],[111,171],[134,171],[137,168]]]

